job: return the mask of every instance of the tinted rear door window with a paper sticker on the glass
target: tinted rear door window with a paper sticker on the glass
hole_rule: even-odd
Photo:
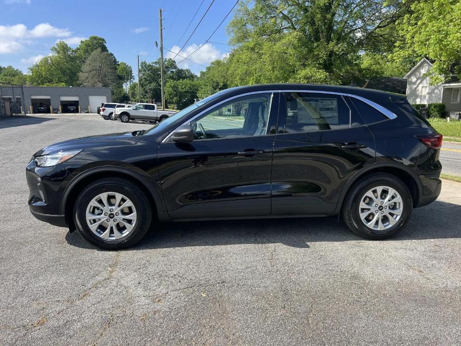
[[[340,95],[286,93],[279,133],[306,133],[350,128],[351,112]]]

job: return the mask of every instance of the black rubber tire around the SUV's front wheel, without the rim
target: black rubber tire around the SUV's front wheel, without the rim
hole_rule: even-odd
[[[135,227],[125,237],[105,240],[91,231],[86,222],[86,209],[90,201],[103,192],[118,192],[127,196],[134,204],[138,219]],[[124,249],[138,243],[146,234],[152,221],[152,205],[138,185],[123,178],[96,180],[80,192],[75,202],[73,217],[80,235],[90,243],[106,250]]]

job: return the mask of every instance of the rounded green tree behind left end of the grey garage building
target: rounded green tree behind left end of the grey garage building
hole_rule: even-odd
[[[75,50],[59,41],[51,47],[51,54],[29,67],[29,83],[39,86],[77,85],[80,63]]]

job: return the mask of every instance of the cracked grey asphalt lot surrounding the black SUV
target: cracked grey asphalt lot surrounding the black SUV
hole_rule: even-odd
[[[337,218],[156,225],[101,251],[28,211],[53,142],[146,124],[0,120],[0,345],[460,345],[461,184],[388,241]]]

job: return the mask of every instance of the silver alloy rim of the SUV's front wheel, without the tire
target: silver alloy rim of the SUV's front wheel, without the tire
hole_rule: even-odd
[[[86,222],[90,230],[96,236],[109,241],[130,234],[137,218],[133,202],[118,192],[100,193],[86,208]]]

